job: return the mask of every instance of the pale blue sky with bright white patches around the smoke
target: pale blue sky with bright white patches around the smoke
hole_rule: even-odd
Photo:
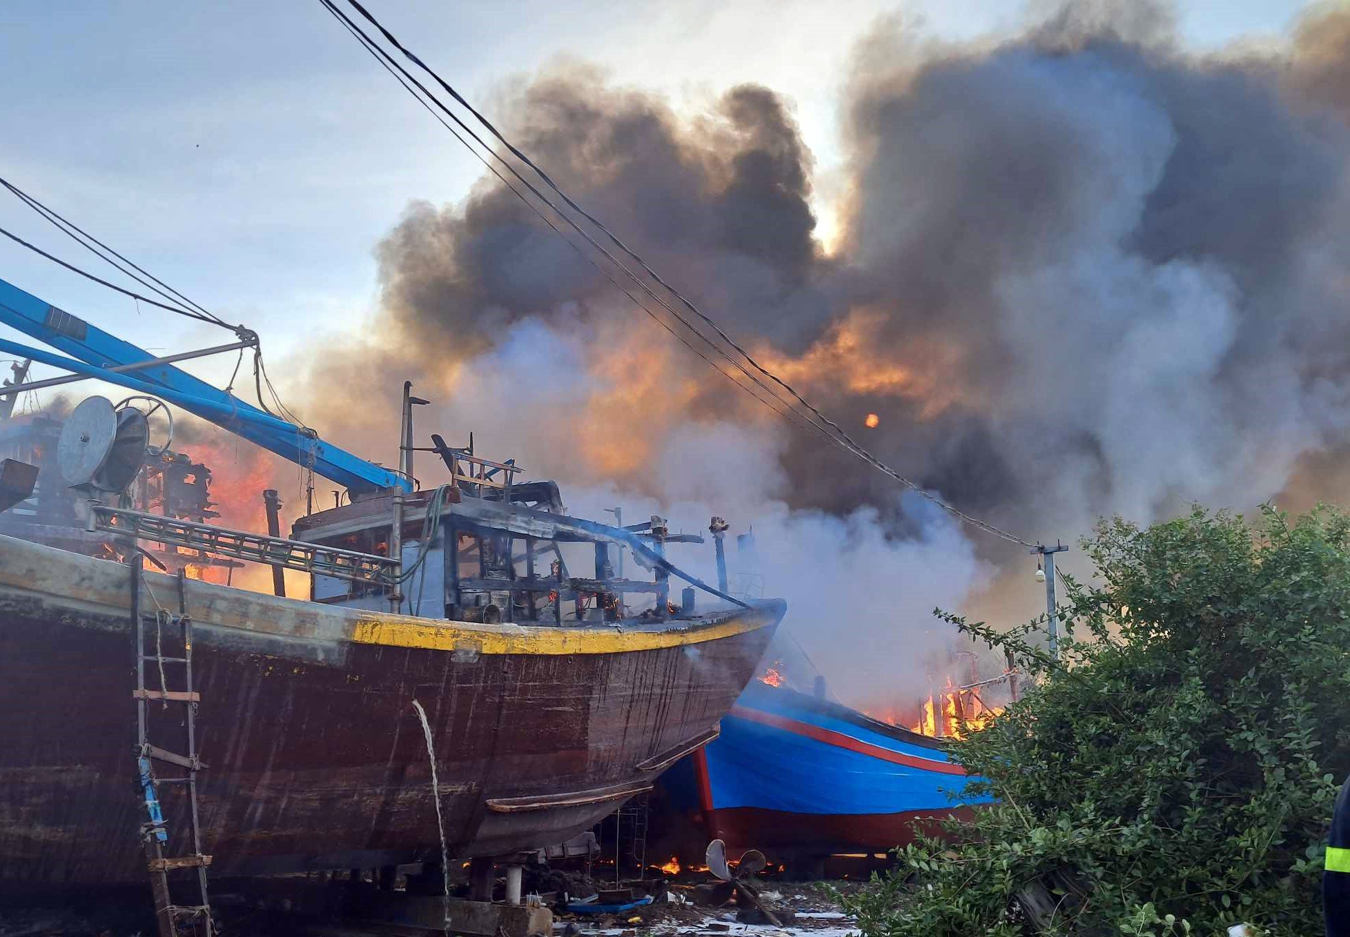
[[[838,89],[869,26],[898,15],[964,41],[1027,16],[1023,3],[999,0],[370,7],[489,116],[504,88],[559,59],[599,65],[680,109],[745,81],[784,93],[815,155],[826,238],[842,158]],[[1219,49],[1277,39],[1301,7],[1185,0],[1177,16],[1187,43]],[[377,302],[378,240],[409,201],[458,201],[482,173],[317,0],[11,0],[0,7],[0,176],[261,332],[273,362],[359,335]],[[99,266],[8,194],[0,227]],[[8,240],[0,277],[155,351],[228,340]],[[232,363],[189,370],[224,383]]]

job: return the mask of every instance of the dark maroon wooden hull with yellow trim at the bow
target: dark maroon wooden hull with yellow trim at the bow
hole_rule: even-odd
[[[130,586],[126,566],[0,537],[0,879],[144,879]],[[176,579],[147,574],[146,587],[148,609],[177,610]],[[617,632],[435,622],[190,581],[185,598],[213,875],[439,857],[413,699],[451,856],[564,840],[716,733],[783,614],[765,602]],[[159,686],[154,662],[146,685]],[[151,741],[182,751],[182,707],[150,709]],[[181,833],[171,787],[161,797]]]

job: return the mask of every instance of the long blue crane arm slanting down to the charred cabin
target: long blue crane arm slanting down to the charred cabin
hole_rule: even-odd
[[[159,394],[184,410],[238,433],[284,459],[305,467],[312,466],[315,474],[329,478],[352,493],[362,494],[390,487],[412,489],[412,482],[397,473],[325,443],[301,427],[278,420],[173,365],[153,365],[126,374],[108,371],[107,369],[119,365],[151,360],[154,355],[50,302],[43,302],[4,279],[0,279],[0,323],[65,351],[85,367],[76,367],[69,359],[46,352],[34,354],[38,360],[47,358],[47,363],[131,387],[138,393]],[[23,346],[11,347],[11,354],[30,351],[35,350],[24,350]]]

